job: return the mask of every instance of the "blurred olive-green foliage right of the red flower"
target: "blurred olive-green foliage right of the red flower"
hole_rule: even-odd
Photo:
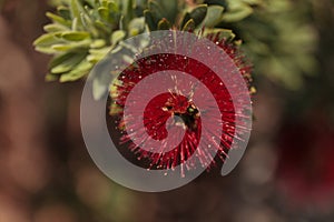
[[[310,1],[267,0],[250,17],[233,24],[244,40],[256,74],[298,89],[303,74],[316,72],[317,37],[307,17],[311,11]]]

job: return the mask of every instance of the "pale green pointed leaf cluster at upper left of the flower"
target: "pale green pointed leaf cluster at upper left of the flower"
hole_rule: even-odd
[[[53,54],[47,80],[75,81],[124,38],[145,31],[132,0],[58,0],[57,12],[47,12],[52,23],[33,44],[36,50]]]

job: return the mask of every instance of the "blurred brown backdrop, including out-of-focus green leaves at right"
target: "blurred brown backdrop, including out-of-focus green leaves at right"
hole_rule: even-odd
[[[254,129],[219,169],[163,193],[106,178],[80,132],[84,81],[47,83],[46,0],[0,0],[0,222],[334,221],[334,2],[272,1],[224,27],[254,63]]]

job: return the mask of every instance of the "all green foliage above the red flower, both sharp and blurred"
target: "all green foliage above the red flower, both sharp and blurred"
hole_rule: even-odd
[[[295,7],[289,0],[52,0],[57,11],[47,12],[51,23],[35,47],[53,56],[47,80],[66,82],[119,52],[126,38],[178,29],[234,40],[228,27],[244,40],[258,75],[296,89],[302,74],[316,68],[316,38],[305,19],[310,1]],[[95,78],[94,91],[101,94],[108,88],[100,84],[105,77]]]

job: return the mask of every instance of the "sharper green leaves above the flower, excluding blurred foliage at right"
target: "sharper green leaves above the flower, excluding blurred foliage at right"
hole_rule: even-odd
[[[224,19],[224,7],[187,6],[178,0],[52,0],[55,13],[45,26],[46,33],[33,44],[37,51],[52,54],[46,79],[60,82],[85,77],[108,52],[121,50],[121,42],[145,31],[179,30],[217,32],[230,39],[230,30],[215,29]],[[117,50],[116,50],[117,48]],[[96,77],[99,79],[104,77]],[[95,91],[101,94],[95,80]],[[97,95],[98,97],[98,95]]]

